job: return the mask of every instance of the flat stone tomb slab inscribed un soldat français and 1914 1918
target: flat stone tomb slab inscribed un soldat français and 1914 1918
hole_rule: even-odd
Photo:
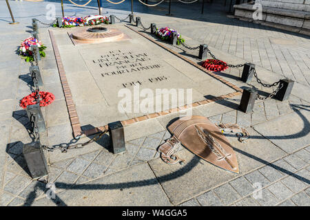
[[[63,41],[65,37],[70,39],[67,32],[56,30],[54,34],[56,43],[61,42],[58,46],[61,61],[82,126],[103,126],[116,120],[155,113],[158,112],[155,108],[157,103],[161,111],[186,104],[178,102],[173,105],[171,95],[169,103],[164,102],[163,96],[156,94],[156,89],[181,91],[185,102],[188,97],[186,89],[192,89],[192,102],[235,92],[129,28],[121,25],[114,28],[124,32],[130,39],[72,47],[72,41]],[[138,85],[138,89],[135,85]],[[122,94],[125,90],[122,89],[132,93],[131,102],[127,102],[132,112],[123,113],[119,110],[127,108],[126,104],[118,107],[125,97]],[[142,97],[143,91],[151,93]],[[140,103],[154,100],[154,108],[146,113],[134,112],[136,100],[140,100]]]

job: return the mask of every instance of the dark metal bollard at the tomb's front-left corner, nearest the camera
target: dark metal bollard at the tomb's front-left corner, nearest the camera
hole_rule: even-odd
[[[28,166],[32,179],[48,175],[48,164],[40,142],[23,145],[23,157]]]

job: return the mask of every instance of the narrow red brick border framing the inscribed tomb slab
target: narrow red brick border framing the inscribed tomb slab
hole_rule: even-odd
[[[125,26],[127,28],[130,28],[127,25],[125,25]],[[183,111],[185,109],[190,109],[192,107],[198,107],[198,106],[203,105],[203,104],[208,104],[210,102],[216,102],[218,100],[223,100],[223,99],[226,99],[226,98],[231,98],[233,96],[238,96],[238,95],[242,94],[242,89],[240,89],[236,85],[234,85],[232,83],[229,83],[227,80],[224,80],[223,78],[221,78],[220,76],[214,74],[213,72],[208,71],[207,69],[201,67],[197,63],[194,63],[193,61],[190,61],[185,56],[182,56],[182,55],[178,54],[177,52],[174,52],[173,50],[165,47],[161,43],[153,41],[148,36],[145,36],[144,34],[142,34],[140,32],[137,32],[136,30],[134,30],[132,28],[130,28],[130,30],[133,30],[134,32],[140,34],[141,36],[144,36],[149,41],[152,41],[153,43],[156,43],[160,47],[163,47],[163,49],[171,52],[172,54],[174,54],[176,56],[178,56],[178,58],[183,59],[183,61],[186,61],[187,63],[190,63],[191,65],[194,65],[194,67],[197,67],[198,69],[200,69],[203,72],[209,74],[210,76],[216,78],[217,80],[220,80],[221,83],[231,87],[232,89],[234,89],[236,91],[234,93],[231,93],[231,94],[227,94],[227,95],[223,95],[223,96],[219,96],[219,97],[214,97],[214,98],[211,98],[211,99],[201,100],[201,101],[198,101],[198,102],[194,102],[194,103],[192,103],[190,105],[184,105],[182,107],[176,107],[174,109],[169,109],[167,111],[151,113],[151,114],[148,114],[148,115],[140,116],[138,118],[132,118],[132,119],[124,120],[124,121],[121,121],[123,126],[127,126],[129,124],[133,124],[135,122],[141,122],[143,120],[147,120],[147,119],[151,119],[151,118],[156,118],[156,117],[159,117],[161,115],[167,115],[169,113],[175,113],[175,112],[178,112],[178,111]],[[99,126],[99,127],[94,128],[94,129],[89,129],[89,130],[86,130],[86,131],[83,131],[83,132],[81,131],[81,124],[79,122],[79,115],[76,112],[76,107],[75,107],[75,104],[74,104],[74,102],[72,100],[72,94],[71,94],[71,91],[70,91],[70,87],[68,85],[67,78],[65,77],[65,69],[63,69],[63,63],[61,61],[61,56],[59,54],[59,50],[58,50],[58,47],[57,47],[57,44],[56,44],[56,40],[54,39],[54,34],[53,34],[52,30],[49,30],[49,32],[50,32],[50,39],[52,41],[52,47],[54,49],[54,55],[55,55],[55,58],[56,58],[56,63],[57,63],[58,71],[59,71],[59,76],[61,78],[61,85],[63,87],[63,94],[65,95],[65,102],[66,102],[67,108],[68,108],[68,113],[69,113],[70,122],[71,122],[71,126],[72,126],[73,136],[74,137],[79,137],[80,135],[86,135],[87,136],[87,135],[93,135],[95,133],[99,133],[101,131],[104,131],[105,129],[107,129],[107,125]]]

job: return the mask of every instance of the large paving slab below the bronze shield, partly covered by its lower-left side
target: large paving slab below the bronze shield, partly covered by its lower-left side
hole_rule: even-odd
[[[148,162],[173,204],[186,201],[236,176],[199,159],[189,151],[180,151],[178,156],[185,159],[186,164],[170,166],[160,158]]]

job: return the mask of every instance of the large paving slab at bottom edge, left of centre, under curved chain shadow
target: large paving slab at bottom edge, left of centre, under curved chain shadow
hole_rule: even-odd
[[[58,196],[68,206],[171,206],[147,164],[74,185]]]

